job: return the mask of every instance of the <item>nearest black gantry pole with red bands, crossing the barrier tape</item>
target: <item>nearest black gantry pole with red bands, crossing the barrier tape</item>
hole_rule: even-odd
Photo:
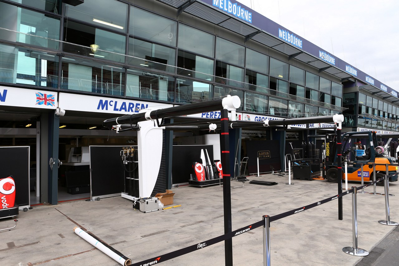
[[[230,190],[230,151],[229,151],[229,114],[223,109],[221,113],[220,149],[223,169],[223,214],[224,232],[231,232],[231,190]],[[233,240],[225,240],[225,265],[233,266]]]

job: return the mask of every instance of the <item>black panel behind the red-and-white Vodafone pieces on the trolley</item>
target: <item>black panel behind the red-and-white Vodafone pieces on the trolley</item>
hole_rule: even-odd
[[[201,163],[201,149],[207,149],[213,163],[213,145],[173,145],[172,184],[188,182],[190,174],[194,174],[193,162]]]

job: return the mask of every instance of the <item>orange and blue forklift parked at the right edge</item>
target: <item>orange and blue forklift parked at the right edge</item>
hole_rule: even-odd
[[[385,146],[376,146],[377,137],[389,138]],[[348,181],[361,181],[361,164],[363,164],[363,181],[373,181],[373,163],[375,163],[375,180],[380,179],[384,175],[389,176],[389,182],[395,182],[398,180],[398,162],[395,157],[388,156],[387,146],[391,141],[392,137],[397,137],[393,134],[379,134],[375,131],[355,131],[347,132],[342,135],[342,165],[347,163],[348,169]],[[356,142],[356,139],[365,139],[365,148],[363,154],[363,145],[361,142]],[[336,156],[336,135],[328,134],[326,136],[326,159],[324,162],[325,171],[323,171],[323,178],[330,182],[337,183],[339,176],[345,180],[345,169],[342,167],[341,173],[338,171],[338,156]],[[378,145],[378,144],[377,144]],[[361,151],[361,154],[359,153]],[[350,153],[354,153],[354,160],[351,161]],[[352,156],[353,157],[353,156]],[[387,167],[388,164],[388,173]],[[383,186],[383,181],[377,182],[377,185]]]

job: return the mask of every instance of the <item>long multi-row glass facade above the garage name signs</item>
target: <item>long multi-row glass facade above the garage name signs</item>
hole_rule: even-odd
[[[135,4],[0,0],[0,39],[17,44],[0,45],[0,82],[178,103],[232,94],[242,111],[283,117],[345,105],[338,79]],[[371,96],[359,101],[377,115],[395,114]]]

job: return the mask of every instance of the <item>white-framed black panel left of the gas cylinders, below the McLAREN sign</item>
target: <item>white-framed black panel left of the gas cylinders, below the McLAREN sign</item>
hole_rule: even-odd
[[[91,197],[124,192],[120,151],[126,146],[90,146]]]

